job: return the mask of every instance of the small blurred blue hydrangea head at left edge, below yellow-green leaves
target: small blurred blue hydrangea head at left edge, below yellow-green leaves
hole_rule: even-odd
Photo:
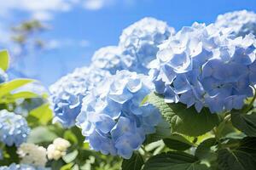
[[[0,111],[0,141],[9,146],[26,142],[30,128],[26,119],[6,110]]]

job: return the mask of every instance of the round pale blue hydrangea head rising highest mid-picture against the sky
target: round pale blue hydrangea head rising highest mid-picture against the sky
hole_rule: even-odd
[[[148,64],[155,59],[158,45],[174,33],[174,28],[166,22],[154,18],[144,18],[128,26],[119,37],[122,57],[129,62],[129,71],[146,74]]]

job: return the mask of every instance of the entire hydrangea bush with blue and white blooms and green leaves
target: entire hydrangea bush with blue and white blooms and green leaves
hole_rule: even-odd
[[[0,51],[0,170],[256,169],[254,18],[145,18],[50,96],[8,81]]]

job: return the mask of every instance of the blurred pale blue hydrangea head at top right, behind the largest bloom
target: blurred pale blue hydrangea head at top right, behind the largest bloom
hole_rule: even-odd
[[[245,37],[249,33],[256,36],[256,14],[247,10],[220,14],[215,25],[232,28],[236,37]]]

